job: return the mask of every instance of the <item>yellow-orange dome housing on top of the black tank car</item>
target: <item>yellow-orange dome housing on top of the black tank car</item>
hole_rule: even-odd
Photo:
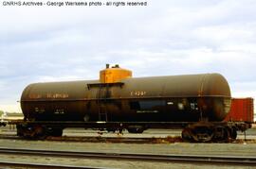
[[[118,64],[111,68],[109,68],[109,64],[106,64],[106,69],[100,72],[101,83],[116,83],[128,77],[132,77],[132,71],[122,69]]]

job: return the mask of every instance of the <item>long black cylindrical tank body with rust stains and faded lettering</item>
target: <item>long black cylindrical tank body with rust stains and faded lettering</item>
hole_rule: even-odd
[[[219,74],[34,83],[22,93],[28,120],[108,122],[221,121],[230,108]]]

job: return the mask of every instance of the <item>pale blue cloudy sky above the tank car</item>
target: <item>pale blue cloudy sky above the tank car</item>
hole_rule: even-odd
[[[96,79],[105,63],[134,76],[220,73],[233,96],[255,98],[255,0],[147,2],[59,8],[1,1],[0,110],[18,110],[29,83]]]

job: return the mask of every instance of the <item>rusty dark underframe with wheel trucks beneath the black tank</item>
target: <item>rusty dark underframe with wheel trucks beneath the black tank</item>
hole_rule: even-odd
[[[142,133],[148,128],[183,129],[181,136],[186,142],[232,142],[237,131],[251,127],[245,122],[9,122],[16,125],[17,135],[27,139],[45,139],[47,136],[62,136],[66,127],[95,128],[122,132]]]

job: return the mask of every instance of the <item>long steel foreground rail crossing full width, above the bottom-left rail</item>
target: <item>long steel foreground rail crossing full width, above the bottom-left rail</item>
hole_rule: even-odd
[[[133,153],[103,153],[103,152],[74,152],[74,151],[50,151],[31,149],[0,148],[0,154],[15,154],[27,156],[63,157],[77,159],[102,159],[123,161],[173,161],[210,164],[236,164],[243,166],[256,166],[256,157],[237,156],[210,156],[210,155],[155,155]]]

